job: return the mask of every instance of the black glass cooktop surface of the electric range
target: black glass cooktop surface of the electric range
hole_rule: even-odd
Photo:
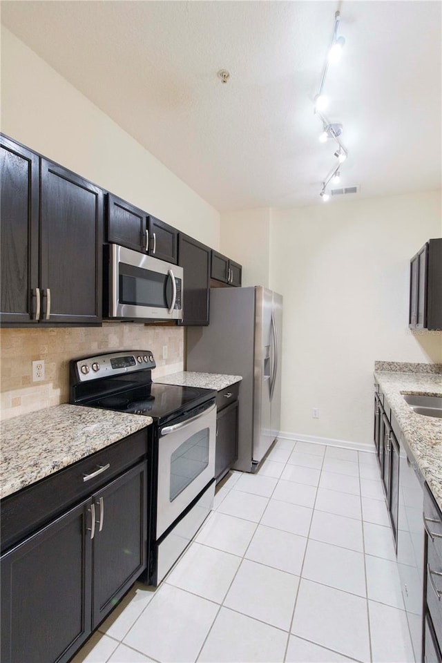
[[[179,387],[175,385],[138,386],[133,389],[93,398],[84,403],[104,410],[117,410],[131,414],[151,416],[157,423],[185,414],[189,410],[215,398],[213,390],[200,387]]]

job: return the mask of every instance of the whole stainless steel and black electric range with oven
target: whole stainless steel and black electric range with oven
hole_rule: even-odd
[[[216,392],[153,383],[150,350],[70,362],[70,403],[151,416],[148,568],[157,585],[209,515],[215,494]]]

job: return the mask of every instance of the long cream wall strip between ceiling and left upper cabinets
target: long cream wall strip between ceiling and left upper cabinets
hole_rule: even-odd
[[[6,28],[1,131],[218,248],[218,211]]]

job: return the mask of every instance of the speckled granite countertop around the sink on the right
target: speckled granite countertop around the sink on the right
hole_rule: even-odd
[[[374,376],[442,510],[442,419],[416,414],[402,396],[442,396],[442,374],[375,371]]]

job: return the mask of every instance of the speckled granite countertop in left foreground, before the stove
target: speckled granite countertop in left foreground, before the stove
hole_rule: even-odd
[[[0,497],[30,486],[152,423],[150,416],[55,405],[1,422]]]

